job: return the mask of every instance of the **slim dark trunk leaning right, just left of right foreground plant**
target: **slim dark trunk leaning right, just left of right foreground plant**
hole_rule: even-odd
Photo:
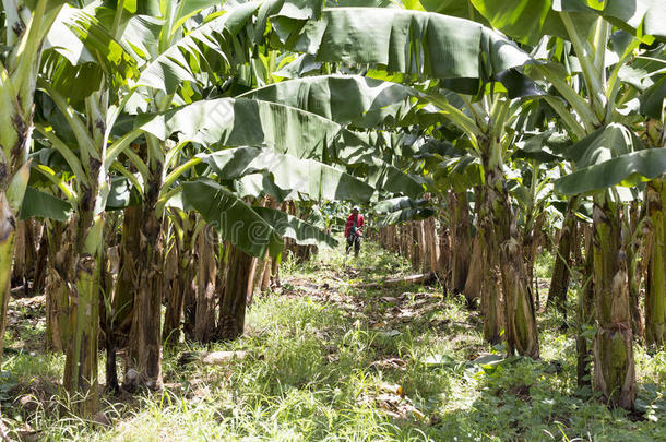
[[[573,213],[574,201],[569,201],[567,215],[560,231],[560,240],[557,246],[550,289],[548,290],[547,307],[555,306],[559,311],[564,311],[567,306],[567,291],[569,290],[569,278],[571,275],[571,248],[575,237],[575,214]]]

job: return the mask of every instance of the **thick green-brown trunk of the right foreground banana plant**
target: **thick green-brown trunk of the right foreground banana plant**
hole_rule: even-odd
[[[631,409],[637,385],[619,203],[596,195],[593,220],[594,387],[609,404]]]

